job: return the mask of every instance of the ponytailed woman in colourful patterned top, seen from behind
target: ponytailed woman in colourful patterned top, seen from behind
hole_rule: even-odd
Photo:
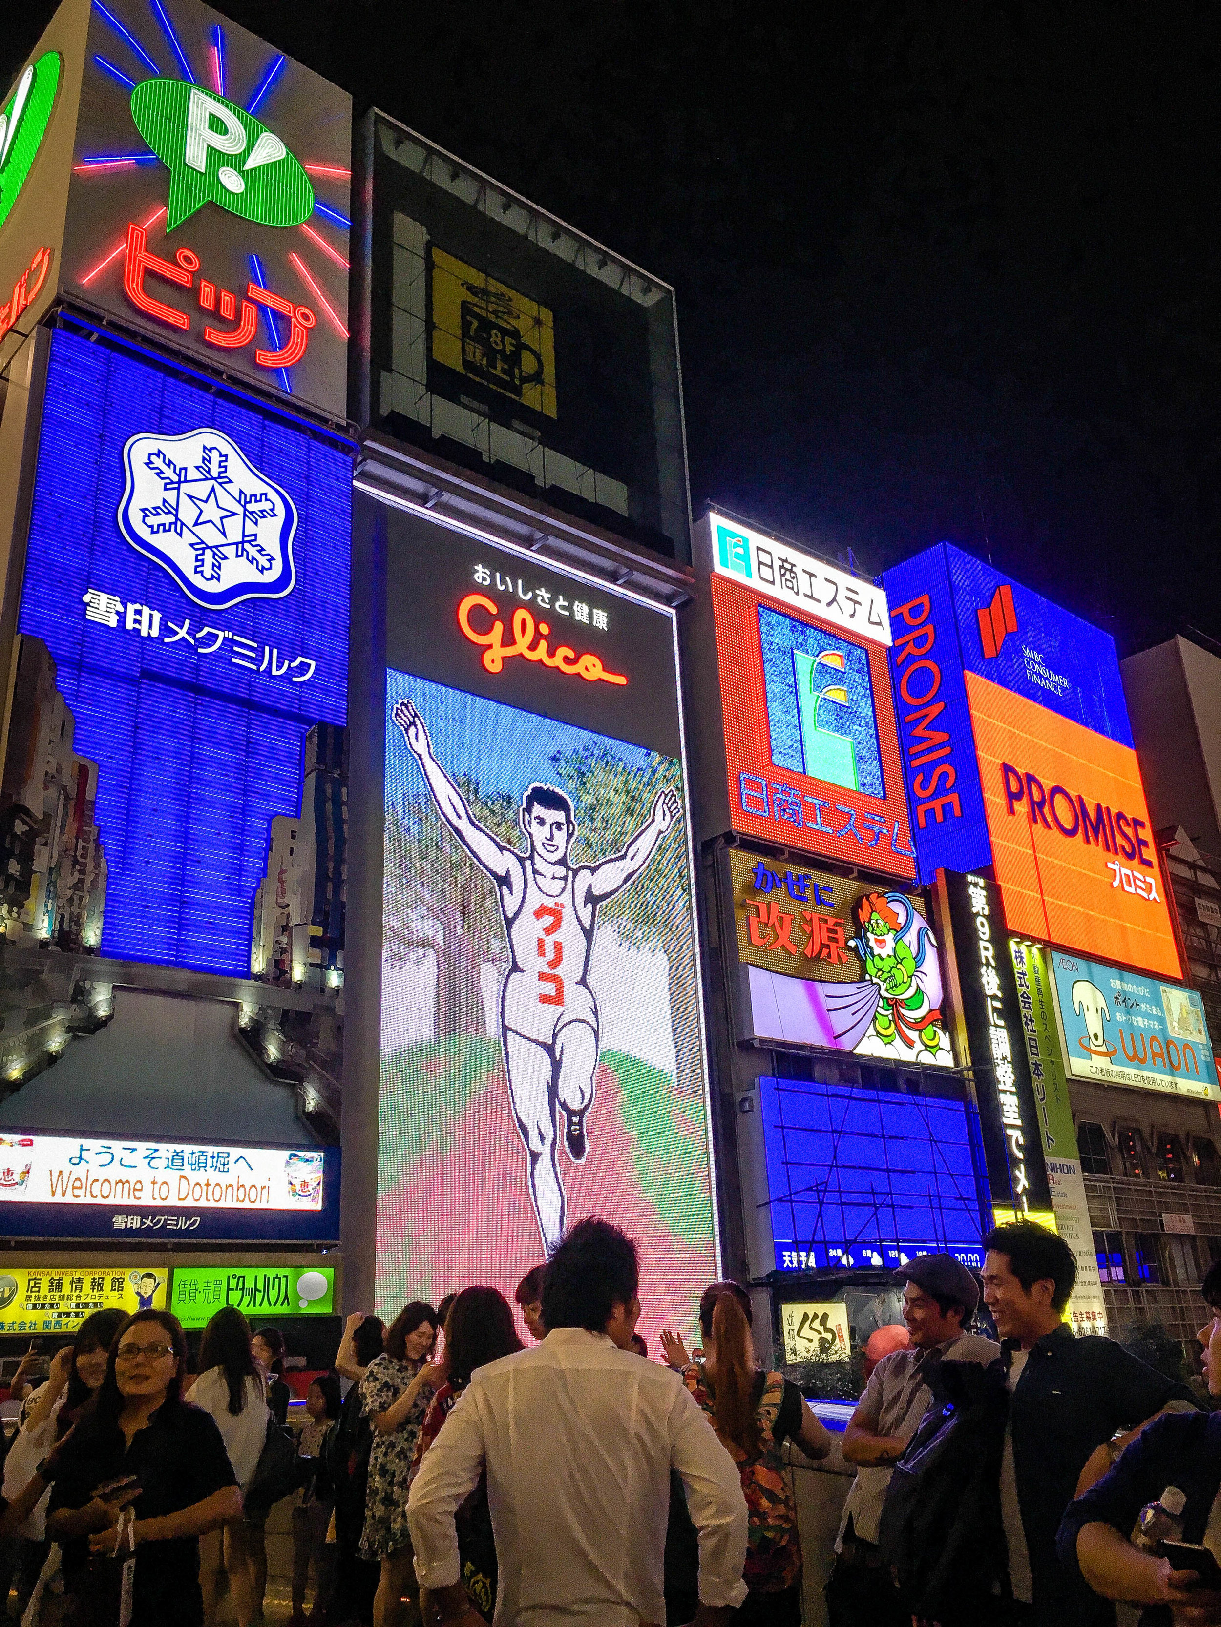
[[[830,1435],[796,1385],[759,1367],[751,1323],[746,1289],[737,1282],[713,1282],[700,1298],[703,1360],[690,1362],[682,1341],[669,1331],[661,1342],[666,1360],[681,1367],[682,1381],[742,1477],[749,1516],[742,1580],[749,1591],[734,1620],[742,1627],[799,1627],[801,1539],[783,1445],[793,1440],[807,1458],[825,1458]],[[698,1599],[687,1616],[681,1607],[676,1619],[687,1620],[695,1604]]]

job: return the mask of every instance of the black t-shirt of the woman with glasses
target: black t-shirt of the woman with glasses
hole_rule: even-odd
[[[130,1446],[120,1429],[104,1430],[93,1419],[83,1420],[59,1455],[49,1511],[83,1508],[96,1487],[124,1474],[140,1476],[137,1521],[177,1513],[238,1484],[212,1417],[186,1401],[166,1401],[137,1430]],[[63,1544],[63,1581],[70,1593],[91,1585],[88,1536]],[[132,1627],[202,1627],[202,1622],[199,1538],[137,1542]]]

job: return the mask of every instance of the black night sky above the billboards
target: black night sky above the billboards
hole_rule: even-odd
[[[220,10],[676,286],[697,514],[1221,639],[1208,0]]]

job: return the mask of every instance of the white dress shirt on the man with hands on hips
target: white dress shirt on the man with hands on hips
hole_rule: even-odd
[[[457,1581],[454,1510],[487,1468],[497,1627],[664,1622],[669,1471],[700,1534],[700,1599],[746,1598],[746,1498],[677,1373],[606,1334],[554,1328],[480,1367],[423,1455],[407,1502],[415,1573]]]

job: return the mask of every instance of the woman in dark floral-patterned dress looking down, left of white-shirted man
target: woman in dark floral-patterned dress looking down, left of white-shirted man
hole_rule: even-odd
[[[373,1627],[402,1627],[404,1594],[415,1593],[407,1485],[420,1425],[441,1381],[428,1365],[435,1344],[436,1311],[412,1300],[386,1329],[386,1349],[360,1381],[360,1404],[373,1425],[360,1552],[381,1562]]]

